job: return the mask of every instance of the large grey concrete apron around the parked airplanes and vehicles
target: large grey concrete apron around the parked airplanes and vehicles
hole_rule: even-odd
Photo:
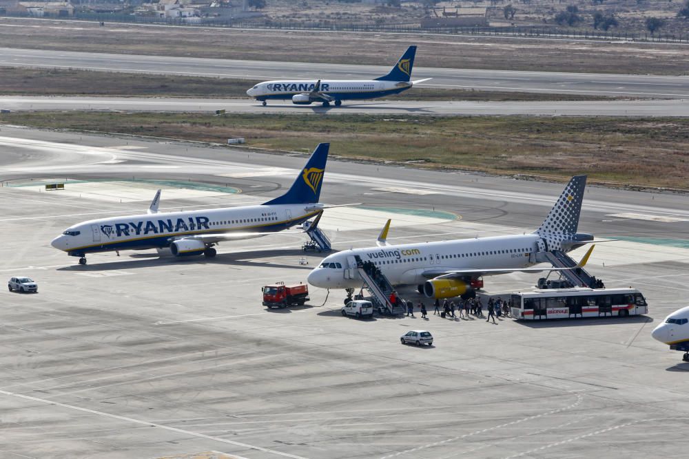
[[[341,317],[342,292],[316,288],[307,306],[266,310],[260,286],[304,281],[322,258],[294,234],[86,266],[49,245],[75,222],[145,212],[158,187],[161,211],[265,202],[305,158],[2,126],[0,272],[39,293],[1,294],[0,456],[682,456],[689,363],[650,330],[689,296],[686,196],[587,187],[578,231],[617,241],[586,268],[644,292],[648,316],[630,319],[359,321]],[[64,193],[45,191],[54,181]],[[375,245],[387,218],[393,243],[521,234],[562,186],[331,158],[322,202],[362,204],[322,225],[338,250]],[[415,329],[434,347],[400,345]]]

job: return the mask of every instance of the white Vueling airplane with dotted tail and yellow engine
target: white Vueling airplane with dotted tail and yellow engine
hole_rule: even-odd
[[[593,242],[593,235],[577,233],[585,186],[586,175],[573,177],[546,220],[531,234],[388,245],[388,221],[378,237],[378,247],[344,250],[326,257],[309,274],[309,284],[320,288],[360,288],[362,279],[357,264],[371,261],[393,286],[418,286],[419,292],[431,298],[469,298],[475,296],[476,288],[482,287],[482,276],[582,268],[593,246],[572,268],[529,266],[540,261],[539,252],[566,253]]]

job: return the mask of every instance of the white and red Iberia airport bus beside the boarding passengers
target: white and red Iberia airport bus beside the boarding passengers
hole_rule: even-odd
[[[542,289],[510,295],[515,319],[628,317],[648,312],[646,299],[635,288]]]

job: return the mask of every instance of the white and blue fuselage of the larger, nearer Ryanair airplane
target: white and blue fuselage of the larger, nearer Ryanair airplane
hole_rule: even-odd
[[[51,242],[76,257],[111,250],[165,248],[180,237],[223,233],[236,239],[260,237],[305,222],[318,210],[305,204],[272,204],[125,215],[89,220],[70,226]]]

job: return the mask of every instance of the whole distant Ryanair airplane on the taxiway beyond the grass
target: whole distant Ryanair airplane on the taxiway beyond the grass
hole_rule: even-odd
[[[389,74],[375,80],[264,81],[249,89],[247,95],[263,101],[264,106],[267,100],[291,100],[297,105],[322,103],[323,107],[328,107],[334,103],[339,107],[342,100],[375,99],[399,94],[431,79],[410,81],[415,54],[416,46],[410,46]]]

